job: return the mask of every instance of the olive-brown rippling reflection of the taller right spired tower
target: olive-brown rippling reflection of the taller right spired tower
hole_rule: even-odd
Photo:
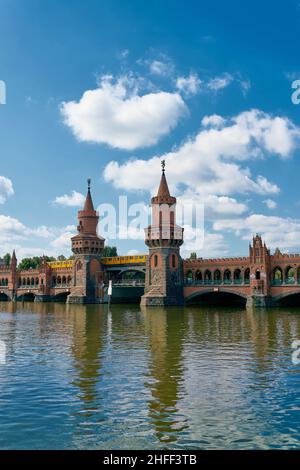
[[[142,309],[151,352],[146,387],[151,390],[149,416],[157,438],[174,444],[188,427],[178,400],[184,395],[183,347],[186,316],[183,309]]]

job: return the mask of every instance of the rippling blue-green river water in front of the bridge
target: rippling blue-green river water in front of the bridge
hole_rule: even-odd
[[[300,448],[300,309],[1,303],[0,449]]]

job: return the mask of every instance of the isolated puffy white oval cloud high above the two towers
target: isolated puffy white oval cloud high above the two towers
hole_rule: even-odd
[[[64,122],[80,141],[125,150],[156,144],[187,114],[187,107],[178,93],[138,91],[132,77],[114,82],[104,76],[99,87],[85,91],[78,102],[62,103]]]

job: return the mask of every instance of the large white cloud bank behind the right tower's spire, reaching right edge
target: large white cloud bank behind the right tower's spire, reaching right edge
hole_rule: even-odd
[[[299,135],[300,129],[288,119],[251,110],[224,120],[217,129],[200,129],[194,138],[162,156],[123,164],[112,161],[104,170],[104,178],[117,188],[153,193],[164,158],[171,190],[176,193],[184,185],[200,195],[277,194],[276,184],[263,175],[253,176],[241,163],[273,153],[286,158],[297,147]]]

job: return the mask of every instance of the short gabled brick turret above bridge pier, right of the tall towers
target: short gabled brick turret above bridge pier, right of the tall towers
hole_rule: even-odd
[[[247,305],[267,306],[270,301],[270,250],[258,234],[253,237],[252,245],[249,246],[249,261],[251,294]]]

